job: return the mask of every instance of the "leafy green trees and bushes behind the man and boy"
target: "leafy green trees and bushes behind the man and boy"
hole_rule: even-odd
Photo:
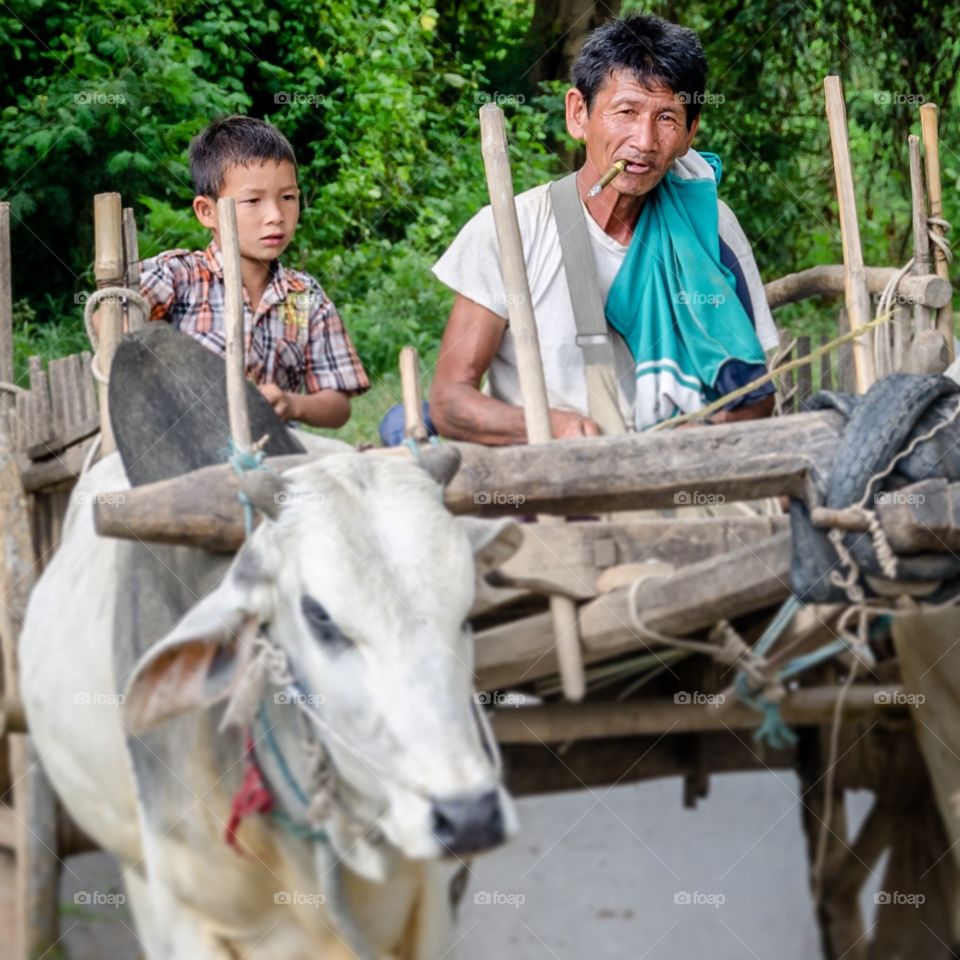
[[[960,7],[931,0],[11,0],[0,4],[0,199],[13,214],[18,376],[80,349],[93,195],[133,206],[143,256],[202,246],[190,138],[265,117],[293,142],[305,207],[290,265],[337,303],[377,387],[350,436],[396,397],[412,343],[429,372],[451,295],[433,260],[486,201],[477,109],[507,114],[519,191],[569,169],[563,91],[584,34],[645,10],[700,31],[710,62],[696,146],[725,164],[765,279],[840,262],[822,81],[844,82],[868,263],[910,250],[906,138],[940,105],[945,213],[960,185]],[[819,333],[828,302],[778,319]],[[356,418],[355,418],[356,419]]]

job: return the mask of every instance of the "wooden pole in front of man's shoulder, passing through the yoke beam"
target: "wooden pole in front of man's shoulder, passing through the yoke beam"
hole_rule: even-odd
[[[480,136],[487,189],[500,247],[507,313],[517,350],[517,371],[523,396],[527,440],[530,443],[549,443],[553,439],[553,433],[547,403],[547,385],[540,359],[540,341],[530,298],[527,267],[523,259],[520,223],[513,198],[513,175],[507,154],[507,130],[503,111],[494,103],[484,104],[480,108]],[[568,700],[580,700],[586,685],[576,604],[568,597],[553,596],[550,598],[550,611],[553,615],[564,695]]]

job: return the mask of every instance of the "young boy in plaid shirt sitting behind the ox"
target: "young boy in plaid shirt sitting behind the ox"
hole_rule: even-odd
[[[280,265],[300,217],[297,161],[289,141],[263,120],[223,117],[190,143],[190,173],[193,211],[213,241],[206,250],[169,250],[144,261],[140,292],[150,303],[149,319],[167,320],[225,355],[217,200],[233,197],[247,376],[284,420],[343,426],[350,398],[370,383],[320,284]]]

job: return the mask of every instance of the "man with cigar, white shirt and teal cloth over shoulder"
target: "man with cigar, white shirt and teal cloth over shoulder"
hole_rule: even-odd
[[[763,349],[777,343],[750,245],[716,199],[719,160],[690,150],[706,72],[692,30],[634,16],[587,40],[566,95],[567,129],[586,147],[575,185],[593,253],[587,269],[596,271],[613,331],[614,406],[632,428],[751,382],[765,371]],[[623,172],[589,196],[616,161],[625,162]],[[591,416],[550,185],[516,204],[553,434],[595,436],[601,429]],[[489,207],[434,273],[457,294],[431,391],[438,431],[486,444],[526,442]],[[754,390],[712,421],[769,416],[772,394],[771,385]]]

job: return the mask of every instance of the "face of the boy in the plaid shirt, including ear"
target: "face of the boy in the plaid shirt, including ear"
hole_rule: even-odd
[[[220,196],[233,197],[236,203],[241,257],[275,260],[290,245],[300,219],[300,191],[296,170],[288,160],[228,167]],[[194,197],[193,209],[219,245],[216,201]]]

